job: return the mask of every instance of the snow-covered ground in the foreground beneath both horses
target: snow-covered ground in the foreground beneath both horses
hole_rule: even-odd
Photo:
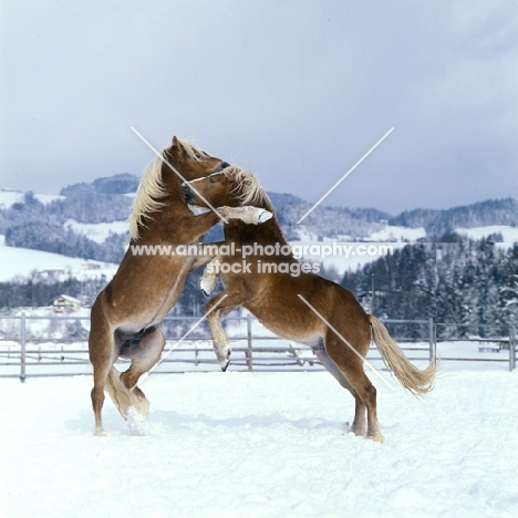
[[[148,422],[106,398],[106,437],[91,376],[0,380],[0,514],[516,515],[517,372],[449,372],[423,400],[371,379],[383,444],[345,433],[353,400],[325,372],[152,375]]]

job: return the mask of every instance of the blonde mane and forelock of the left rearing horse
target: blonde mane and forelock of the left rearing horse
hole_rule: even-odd
[[[198,162],[204,156],[208,156],[206,152],[197,147],[191,141],[182,139],[179,142],[193,160]],[[144,218],[149,213],[159,210],[165,205],[164,201],[160,201],[160,198],[167,195],[167,190],[162,183],[162,165],[166,160],[164,153],[165,149],[144,170],[133,203],[133,211],[128,218],[130,239],[138,239],[138,226],[144,226]]]

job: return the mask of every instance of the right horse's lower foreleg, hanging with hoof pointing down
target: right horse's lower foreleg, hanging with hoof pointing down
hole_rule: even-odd
[[[228,364],[230,363],[230,354],[232,350],[230,348],[230,341],[228,340],[227,333],[221,327],[221,318],[229,313],[232,309],[242,305],[245,302],[242,297],[244,291],[236,290],[236,288],[237,287],[235,284],[232,287],[232,291],[229,292],[228,289],[221,291],[221,293],[216,296],[207,303],[205,309],[205,312],[209,313],[207,320],[210,328],[210,336],[213,338],[213,346],[216,352],[216,359],[218,361],[218,365],[224,372],[227,370]]]

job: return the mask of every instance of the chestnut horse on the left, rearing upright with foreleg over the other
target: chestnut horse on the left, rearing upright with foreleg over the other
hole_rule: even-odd
[[[142,250],[167,242],[174,250],[175,246],[200,242],[220,218],[257,224],[268,217],[263,209],[231,207],[195,216],[187,207],[182,183],[227,167],[227,162],[175,136],[144,172],[128,218],[130,247],[91,310],[89,355],[93,366],[95,435],[105,435],[101,415],[105,390],[124,418],[127,419],[131,407],[147,415],[149,403],[136,384],[164,350],[159,324],[176,303],[187,273],[216,253],[188,256],[173,251],[146,256],[134,253],[135,246]],[[131,360],[130,367],[121,374],[114,367],[118,358]]]

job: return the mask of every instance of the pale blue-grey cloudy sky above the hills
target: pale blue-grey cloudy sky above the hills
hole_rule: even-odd
[[[518,198],[518,0],[2,0],[0,187],[193,138],[269,191],[392,215]]]

